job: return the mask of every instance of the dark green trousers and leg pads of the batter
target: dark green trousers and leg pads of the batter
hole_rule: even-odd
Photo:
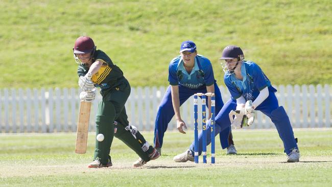
[[[128,81],[102,92],[103,100],[99,102],[96,115],[96,135],[104,134],[104,140],[102,142],[96,140],[94,159],[99,159],[103,165],[111,159],[110,151],[114,135],[145,161],[150,160],[149,155],[154,150],[144,136],[134,126],[129,125],[125,108],[129,95]]]

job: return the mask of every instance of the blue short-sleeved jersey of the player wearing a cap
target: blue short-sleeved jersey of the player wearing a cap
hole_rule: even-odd
[[[215,77],[210,60],[204,56],[197,55],[194,68],[188,74],[183,66],[181,56],[175,57],[169,66],[169,82],[171,85],[181,85],[191,89],[213,85]]]

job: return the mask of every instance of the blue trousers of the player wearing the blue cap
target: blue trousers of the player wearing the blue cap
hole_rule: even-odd
[[[216,113],[218,113],[221,108],[224,106],[221,92],[217,83],[215,82],[215,96],[216,96]],[[195,93],[206,93],[206,87],[201,89],[190,89],[184,86],[179,85],[179,99],[180,106]],[[207,104],[207,102],[206,102]],[[194,108],[194,106],[193,106]],[[156,116],[155,128],[154,128],[154,146],[162,147],[163,136],[167,130],[168,124],[172,120],[174,116],[174,108],[172,103],[172,95],[171,95],[171,86],[169,86],[165,92],[165,95],[159,105],[159,109]],[[220,133],[221,145],[224,148],[228,147],[228,136],[230,134],[230,127],[225,128]]]

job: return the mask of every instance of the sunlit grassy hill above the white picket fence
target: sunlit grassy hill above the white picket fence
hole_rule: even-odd
[[[2,1],[0,87],[77,86],[72,48],[93,38],[132,86],[168,85],[168,64],[193,40],[214,66],[228,44],[273,84],[332,83],[330,1]]]

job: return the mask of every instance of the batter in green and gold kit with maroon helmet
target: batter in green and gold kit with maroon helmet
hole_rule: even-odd
[[[105,138],[101,142],[96,140],[93,161],[88,167],[112,166],[110,147],[114,135],[139,155],[134,167],[158,158],[158,151],[149,145],[135,126],[129,125],[125,103],[130,95],[130,85],[121,69],[103,51],[97,50],[88,36],[77,38],[73,50],[79,64],[79,86],[83,90],[80,99],[92,102],[96,96],[95,87],[101,88],[103,96],[96,115],[96,135],[103,134]]]

